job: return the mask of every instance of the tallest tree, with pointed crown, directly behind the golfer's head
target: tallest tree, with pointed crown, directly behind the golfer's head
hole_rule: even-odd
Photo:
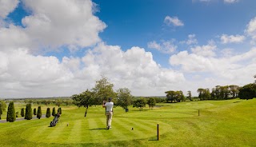
[[[102,101],[106,101],[109,97],[112,97],[112,101],[115,103],[117,94],[114,92],[113,87],[114,85],[104,76],[102,76],[102,79],[96,81],[96,85],[92,89],[94,93],[94,105],[101,105]]]

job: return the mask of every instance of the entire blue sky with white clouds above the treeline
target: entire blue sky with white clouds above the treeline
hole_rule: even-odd
[[[102,75],[197,96],[254,74],[254,0],[0,0],[0,97],[70,96]]]

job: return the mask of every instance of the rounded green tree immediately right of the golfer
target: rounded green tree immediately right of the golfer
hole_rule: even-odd
[[[123,109],[128,109],[128,105],[131,104],[130,89],[122,88],[117,90],[118,101],[117,105],[121,106]]]

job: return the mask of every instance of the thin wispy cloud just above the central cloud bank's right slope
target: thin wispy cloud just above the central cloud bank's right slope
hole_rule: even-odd
[[[178,46],[174,45],[174,39],[170,41],[161,41],[161,43],[158,42],[148,42],[147,47],[150,49],[156,49],[164,54],[171,54],[173,53]]]

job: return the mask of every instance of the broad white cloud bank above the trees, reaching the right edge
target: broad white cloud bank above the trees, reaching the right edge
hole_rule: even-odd
[[[240,85],[250,82],[250,77],[256,69],[255,57],[256,48],[244,54],[224,58],[207,58],[183,51],[170,57],[170,65],[181,66],[182,70],[188,73],[203,72],[206,77],[213,78],[214,81],[211,82],[214,85],[230,85],[232,82]]]

